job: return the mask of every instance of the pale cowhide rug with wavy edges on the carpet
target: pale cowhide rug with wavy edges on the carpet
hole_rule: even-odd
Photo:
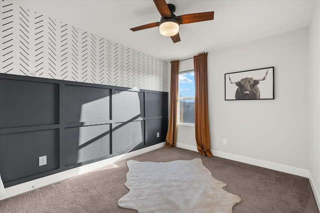
[[[232,213],[241,199],[224,191],[199,158],[167,163],[127,161],[122,208],[139,213]]]

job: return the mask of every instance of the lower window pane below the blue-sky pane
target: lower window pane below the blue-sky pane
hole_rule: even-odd
[[[179,122],[194,124],[194,100],[179,100]]]

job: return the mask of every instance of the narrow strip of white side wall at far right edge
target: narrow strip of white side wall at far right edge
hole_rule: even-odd
[[[320,207],[320,1],[309,26],[309,171]],[[312,185],[311,185],[312,186]]]

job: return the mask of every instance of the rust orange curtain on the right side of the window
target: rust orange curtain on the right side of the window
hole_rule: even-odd
[[[193,57],[194,65],[194,127],[196,147],[200,155],[212,157],[208,121],[207,53]]]

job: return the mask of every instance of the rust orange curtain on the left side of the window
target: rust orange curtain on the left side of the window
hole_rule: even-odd
[[[179,60],[171,61],[170,103],[168,131],[164,147],[175,147],[176,142],[176,104],[178,99]]]

